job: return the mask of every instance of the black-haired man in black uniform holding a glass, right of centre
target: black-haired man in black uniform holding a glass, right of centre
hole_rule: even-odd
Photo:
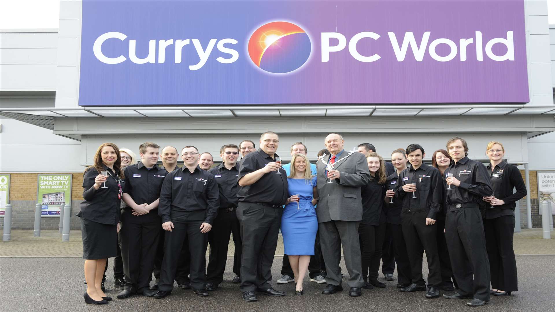
[[[403,200],[401,225],[411,264],[412,284],[400,290],[403,293],[426,290],[422,278],[422,251],[426,250],[430,286],[426,298],[437,298],[440,296],[441,267],[435,223],[441,210],[443,180],[440,170],[422,163],[426,153],[421,145],[408,145],[406,153],[411,165],[399,174],[396,193]]]

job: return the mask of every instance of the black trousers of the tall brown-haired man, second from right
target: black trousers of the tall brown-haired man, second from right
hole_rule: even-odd
[[[490,260],[478,207],[449,208],[445,239],[458,293],[490,301]]]

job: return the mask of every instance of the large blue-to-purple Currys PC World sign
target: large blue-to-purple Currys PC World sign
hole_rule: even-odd
[[[79,105],[528,98],[523,1],[83,1]]]

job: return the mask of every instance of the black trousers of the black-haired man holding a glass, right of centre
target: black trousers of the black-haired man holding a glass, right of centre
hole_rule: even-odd
[[[437,226],[426,225],[429,209],[401,212],[401,223],[405,243],[407,245],[408,259],[411,263],[411,280],[417,285],[425,285],[422,278],[422,255],[426,251],[428,261],[428,285],[441,287],[440,256],[437,252]]]

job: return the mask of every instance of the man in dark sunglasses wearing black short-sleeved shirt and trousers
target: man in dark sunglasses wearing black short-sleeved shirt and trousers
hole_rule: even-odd
[[[241,232],[235,212],[239,203],[239,198],[237,198],[239,147],[235,144],[224,145],[220,149],[220,157],[223,162],[218,167],[208,170],[209,173],[214,174],[220,189],[218,217],[214,219],[214,229],[208,233],[208,243],[210,244],[210,257],[208,268],[206,268],[206,281],[208,282],[206,290],[208,291],[218,288],[218,284],[224,280],[230,233],[233,233],[233,242],[235,243],[233,273],[235,273],[236,279],[239,279],[241,274]]]

